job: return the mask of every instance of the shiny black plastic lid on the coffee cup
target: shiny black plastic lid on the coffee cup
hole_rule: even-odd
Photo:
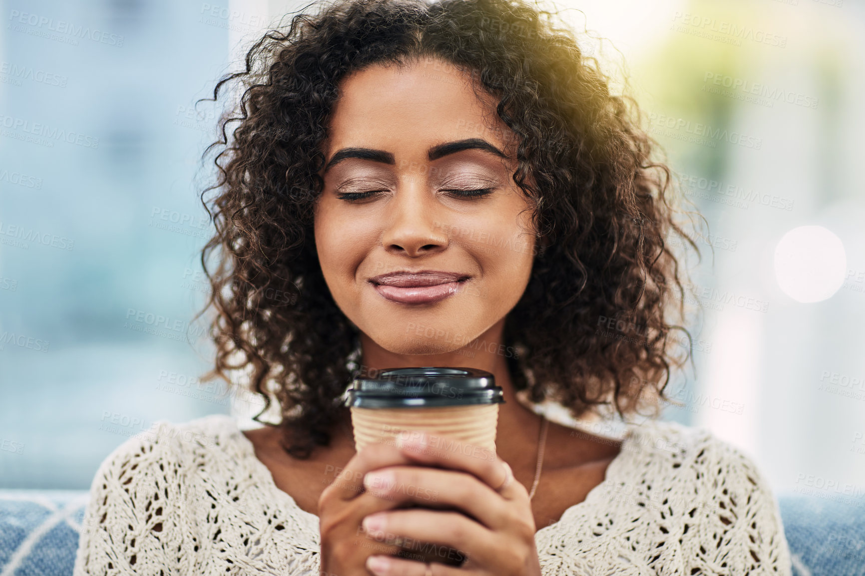
[[[422,408],[504,402],[496,377],[476,368],[388,368],[358,377],[345,392],[345,406]]]

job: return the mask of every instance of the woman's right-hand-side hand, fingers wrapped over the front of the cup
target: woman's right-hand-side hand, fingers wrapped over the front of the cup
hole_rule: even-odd
[[[363,519],[368,538],[434,542],[468,557],[460,567],[432,562],[433,576],[541,575],[529,494],[508,464],[493,453],[471,451],[455,438],[431,433],[404,433],[397,444],[413,465],[388,464],[367,473],[368,493],[394,504],[444,505],[459,511],[390,507]],[[431,494],[436,495],[434,503]],[[428,574],[422,562],[388,555],[373,554],[366,566],[375,576]]]

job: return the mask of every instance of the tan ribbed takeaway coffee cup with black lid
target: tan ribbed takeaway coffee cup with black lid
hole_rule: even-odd
[[[493,374],[475,368],[391,368],[375,378],[356,378],[345,397],[358,451],[376,442],[394,443],[404,430],[426,430],[433,435],[432,446],[437,436],[446,435],[460,443],[446,449],[481,458],[495,458],[503,402]],[[397,555],[409,560],[451,566],[465,561],[464,553],[430,542],[388,543],[400,546]]]

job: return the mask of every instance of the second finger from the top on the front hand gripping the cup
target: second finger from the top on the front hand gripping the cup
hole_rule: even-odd
[[[503,528],[511,519],[503,496],[468,472],[388,466],[367,472],[364,485],[385,500],[460,509],[490,529]]]

